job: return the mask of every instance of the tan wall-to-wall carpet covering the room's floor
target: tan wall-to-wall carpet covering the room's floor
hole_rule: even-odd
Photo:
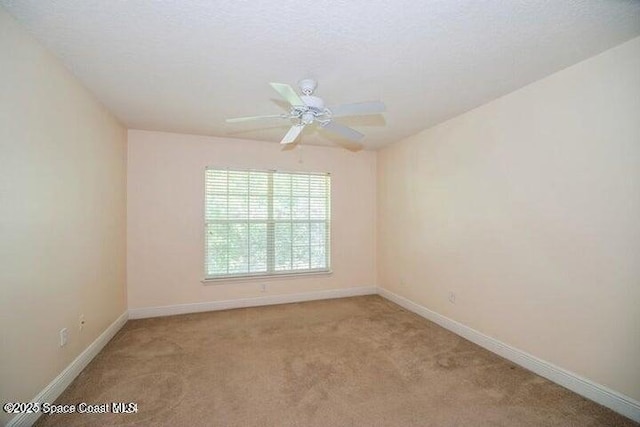
[[[129,321],[40,426],[631,426],[378,296]]]

